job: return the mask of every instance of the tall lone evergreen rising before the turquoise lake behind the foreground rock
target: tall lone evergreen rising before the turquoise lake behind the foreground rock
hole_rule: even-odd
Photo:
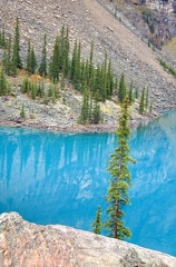
[[[128,127],[128,100],[123,103],[121,116],[117,129],[118,146],[114,154],[110,155],[109,168],[110,180],[107,190],[107,215],[108,219],[105,222],[107,233],[110,237],[124,239],[130,237],[130,230],[125,226],[123,220],[125,212],[124,207],[129,204],[128,188],[131,185],[131,178],[128,169],[128,162],[135,162],[129,156],[128,140],[130,130]]]

